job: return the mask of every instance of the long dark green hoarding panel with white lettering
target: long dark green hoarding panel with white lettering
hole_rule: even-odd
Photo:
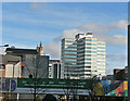
[[[17,88],[91,89],[91,79],[18,78]]]

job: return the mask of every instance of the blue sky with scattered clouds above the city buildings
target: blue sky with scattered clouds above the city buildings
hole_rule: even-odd
[[[127,2],[3,2],[2,43],[60,59],[61,39],[93,33],[106,42],[106,74],[127,64]]]

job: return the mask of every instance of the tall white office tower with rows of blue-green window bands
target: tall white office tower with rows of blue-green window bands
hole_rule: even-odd
[[[86,79],[105,76],[105,42],[92,33],[62,39],[61,78]]]

